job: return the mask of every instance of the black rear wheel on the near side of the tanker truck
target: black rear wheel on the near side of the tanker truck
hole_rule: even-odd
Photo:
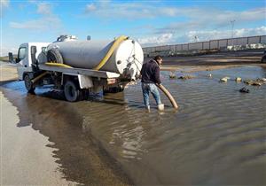
[[[64,85],[64,94],[67,101],[75,102],[80,100],[81,91],[78,89],[74,81],[66,81]]]

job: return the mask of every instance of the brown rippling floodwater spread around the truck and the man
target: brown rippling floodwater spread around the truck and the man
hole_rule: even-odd
[[[18,81],[4,85],[4,96],[20,111],[19,127],[30,120],[32,128],[54,143],[51,148],[57,148],[54,153],[66,180],[97,182],[86,172],[92,139],[111,169],[127,177],[121,182],[265,185],[266,85],[246,86],[233,79],[266,77],[266,69],[205,71],[186,81],[169,80],[168,74],[161,72],[161,79],[176,97],[177,111],[161,95],[166,110],[158,112],[151,98],[152,110],[146,112],[140,83],[124,93],[78,103],[59,100],[45,92],[48,89],[27,95]],[[232,81],[219,82],[224,76]],[[239,92],[245,86],[250,93]],[[32,113],[27,122],[23,112]]]

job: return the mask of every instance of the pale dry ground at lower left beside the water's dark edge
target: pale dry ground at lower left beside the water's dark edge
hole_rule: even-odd
[[[28,123],[18,128],[18,110],[0,92],[1,99],[1,185],[74,185],[60,172],[49,137]]]

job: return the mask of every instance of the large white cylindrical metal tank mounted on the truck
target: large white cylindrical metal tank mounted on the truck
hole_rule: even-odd
[[[114,41],[78,41],[74,36],[63,35],[51,43],[47,50],[59,50],[64,64],[78,68],[93,69],[106,56]],[[140,74],[144,54],[139,43],[132,39],[122,41],[113,51],[105,66],[99,70],[123,74],[135,79]]]

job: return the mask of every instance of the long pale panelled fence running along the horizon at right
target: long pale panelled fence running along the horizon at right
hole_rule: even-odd
[[[145,54],[150,54],[160,51],[171,51],[173,53],[176,53],[178,51],[188,51],[188,50],[226,49],[228,46],[234,46],[234,45],[243,46],[246,44],[257,44],[257,43],[265,44],[266,35],[210,40],[208,42],[198,42],[198,43],[184,43],[184,44],[164,45],[164,46],[155,46],[155,47],[144,47],[143,50]]]

